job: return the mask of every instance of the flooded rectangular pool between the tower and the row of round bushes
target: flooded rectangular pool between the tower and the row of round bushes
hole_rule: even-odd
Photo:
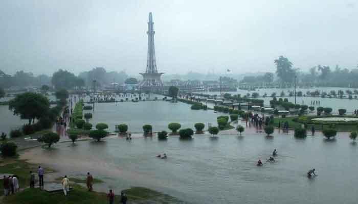
[[[99,122],[107,123],[110,131],[115,130],[116,124],[125,123],[129,132],[143,132],[143,125],[153,126],[153,132],[170,131],[168,124],[171,122],[181,123],[182,127],[194,129],[194,124],[202,122],[216,125],[216,118],[220,113],[204,110],[191,110],[191,105],[184,103],[170,103],[168,101],[139,101],[138,103],[96,103],[95,111],[84,111],[93,113],[89,120],[94,126]]]

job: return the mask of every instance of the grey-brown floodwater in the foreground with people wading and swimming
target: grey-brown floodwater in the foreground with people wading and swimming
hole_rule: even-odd
[[[295,139],[293,132],[277,130],[267,138],[254,127],[242,137],[234,133],[227,131],[216,139],[194,135],[189,141],[177,136],[167,141],[111,136],[100,143],[34,148],[21,158],[67,175],[91,171],[115,192],[143,186],[189,203],[356,203],[358,146],[347,134],[327,141],[319,133]],[[257,160],[270,157],[274,148],[277,162],[257,167]],[[163,152],[168,159],[155,158]],[[314,179],[306,176],[310,168],[316,168]]]

